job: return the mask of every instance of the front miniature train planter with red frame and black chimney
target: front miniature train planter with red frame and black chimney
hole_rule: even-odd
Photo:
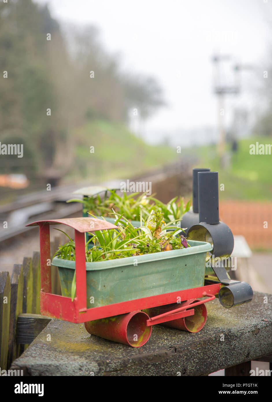
[[[230,228],[219,221],[218,172],[209,170],[195,169],[194,211],[183,216],[182,226],[188,227],[186,237],[192,246],[190,251],[171,250],[137,256],[136,267],[132,266],[132,257],[86,263],[84,232],[116,228],[114,218],[34,222],[32,225],[40,226],[41,314],[84,322],[90,334],[141,347],[149,339],[154,324],[198,332],[207,319],[205,303],[215,299],[217,294],[225,308],[251,301],[253,291],[248,283],[231,279],[222,264],[211,268],[205,265],[206,254],[210,258],[211,254],[219,256],[222,261],[230,256],[234,245]],[[94,192],[84,188],[75,193],[86,196],[106,190],[97,187]],[[75,229],[76,261],[53,260],[59,267],[63,296],[51,295],[51,271],[46,264],[50,258],[49,224],[53,223]],[[140,223],[133,221],[132,224],[139,227]],[[74,269],[76,297],[72,301]],[[94,303],[87,308],[90,297],[94,297]],[[207,298],[201,299],[203,297]]]

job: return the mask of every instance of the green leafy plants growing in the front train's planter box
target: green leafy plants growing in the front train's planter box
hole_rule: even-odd
[[[166,224],[163,214],[155,211],[151,212],[147,219],[140,216],[141,226],[134,228],[123,215],[115,213],[115,217],[115,225],[118,229],[90,233],[90,239],[86,242],[86,262],[176,250],[188,246],[181,234],[183,229],[175,226],[180,219]],[[67,237],[69,242],[59,246],[55,256],[65,260],[75,260],[75,242],[69,236]],[[94,246],[89,249],[90,242],[93,242]]]

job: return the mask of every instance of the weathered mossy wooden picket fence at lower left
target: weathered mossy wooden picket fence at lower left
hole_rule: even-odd
[[[51,260],[59,244],[66,241],[61,234],[50,242]],[[52,293],[61,294],[57,267],[53,265],[51,281]],[[23,258],[22,264],[14,265],[11,278],[8,272],[0,272],[0,370],[8,369],[48,323],[48,318],[31,316],[40,314],[40,290],[39,251],[33,252],[32,258]],[[29,328],[33,333],[28,332]]]

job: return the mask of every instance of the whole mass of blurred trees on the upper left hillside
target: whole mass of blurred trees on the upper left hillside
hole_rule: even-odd
[[[37,172],[52,177],[77,164],[82,169],[75,152],[81,139],[72,132],[87,121],[125,123],[131,107],[147,118],[163,104],[157,82],[122,73],[119,58],[104,51],[94,27],[60,27],[47,6],[32,0],[0,3],[3,71],[8,78],[1,78],[0,141],[15,130],[17,139],[29,143]]]

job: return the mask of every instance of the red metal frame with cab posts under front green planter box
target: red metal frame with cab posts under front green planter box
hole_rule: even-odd
[[[88,219],[88,218],[86,218]],[[84,232],[75,229],[75,249],[76,249],[76,297],[72,301],[70,297],[54,295],[51,293],[51,266],[48,265],[50,260],[50,232],[49,222],[52,221],[39,221],[35,224],[40,228],[40,250],[41,250],[41,293],[40,293],[40,306],[41,314],[61,320],[80,323],[100,318],[116,316],[137,310],[144,310],[165,304],[176,303],[177,298],[180,301],[188,299],[197,299],[199,297],[209,296],[209,299],[202,300],[194,303],[206,303],[214,299],[218,294],[221,283],[213,283],[192,289],[180,290],[171,293],[164,293],[156,296],[143,297],[130,301],[123,301],[121,303],[109,304],[107,306],[100,306],[88,308],[86,306],[86,260],[85,260],[85,236]],[[64,222],[63,222],[64,223]],[[33,225],[33,224],[32,224]],[[72,225],[70,225],[72,226]],[[158,324],[159,322],[173,320],[180,317],[185,317],[194,314],[194,309],[186,310],[188,306],[173,310],[171,312],[162,314],[161,316],[150,318],[147,320],[149,325]],[[186,310],[186,311],[182,311]],[[174,317],[170,316],[174,315]],[[147,324],[148,325],[148,324]]]

